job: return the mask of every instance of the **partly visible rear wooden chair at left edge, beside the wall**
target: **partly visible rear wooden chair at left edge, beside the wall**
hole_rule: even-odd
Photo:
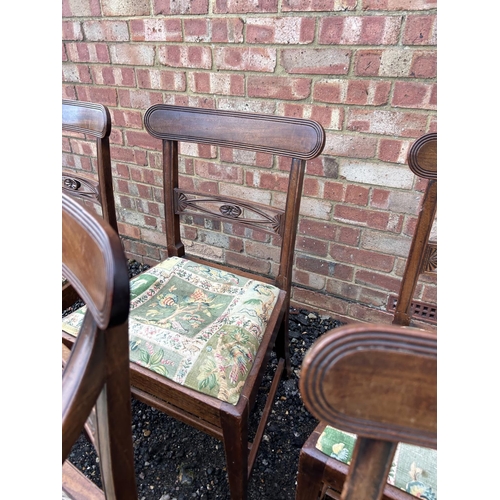
[[[89,148],[89,157],[95,157],[97,171],[97,176],[82,174],[81,171],[71,171],[70,162],[63,162],[66,163],[63,165],[62,172],[63,192],[80,200],[84,205],[92,204],[100,207],[104,219],[118,232],[109,150],[111,117],[108,108],[102,104],[91,102],[63,100],[62,129],[63,131],[84,134],[86,139],[92,140],[92,143],[86,146]],[[64,139],[68,142],[65,145],[66,150],[80,152],[79,150],[82,149],[81,141],[76,142],[79,141],[79,138],[65,136]],[[63,279],[63,310],[74,304],[78,298],[75,290],[67,280]]]

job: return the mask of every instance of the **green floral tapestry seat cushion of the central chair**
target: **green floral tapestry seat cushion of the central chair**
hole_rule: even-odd
[[[171,257],[130,281],[130,360],[236,404],[279,288]],[[77,335],[86,307],[63,318]]]

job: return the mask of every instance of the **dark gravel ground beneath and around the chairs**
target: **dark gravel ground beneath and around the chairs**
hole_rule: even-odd
[[[147,269],[129,261],[130,276]],[[79,307],[75,304],[74,307]],[[63,316],[70,312],[67,310]],[[324,332],[340,326],[336,320],[304,309],[290,310],[290,354],[293,374],[280,383],[249,482],[249,500],[294,500],[300,448],[317,424],[304,408],[298,391],[298,373],[304,354]],[[271,359],[276,365],[276,358]],[[250,433],[262,412],[271,374],[252,412]],[[141,500],[229,500],[222,443],[182,422],[132,399],[132,424]],[[253,436],[251,436],[253,437]],[[99,464],[92,445],[81,435],[71,462],[98,486]]]

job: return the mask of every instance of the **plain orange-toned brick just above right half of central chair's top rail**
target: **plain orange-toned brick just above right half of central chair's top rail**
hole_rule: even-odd
[[[308,97],[310,92],[311,80],[309,78],[249,76],[247,79],[249,97],[297,101]]]

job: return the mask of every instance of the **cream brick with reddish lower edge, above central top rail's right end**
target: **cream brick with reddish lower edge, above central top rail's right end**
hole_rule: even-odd
[[[328,49],[283,49],[281,60],[288,73],[318,75],[346,75],[351,51],[331,47]]]

